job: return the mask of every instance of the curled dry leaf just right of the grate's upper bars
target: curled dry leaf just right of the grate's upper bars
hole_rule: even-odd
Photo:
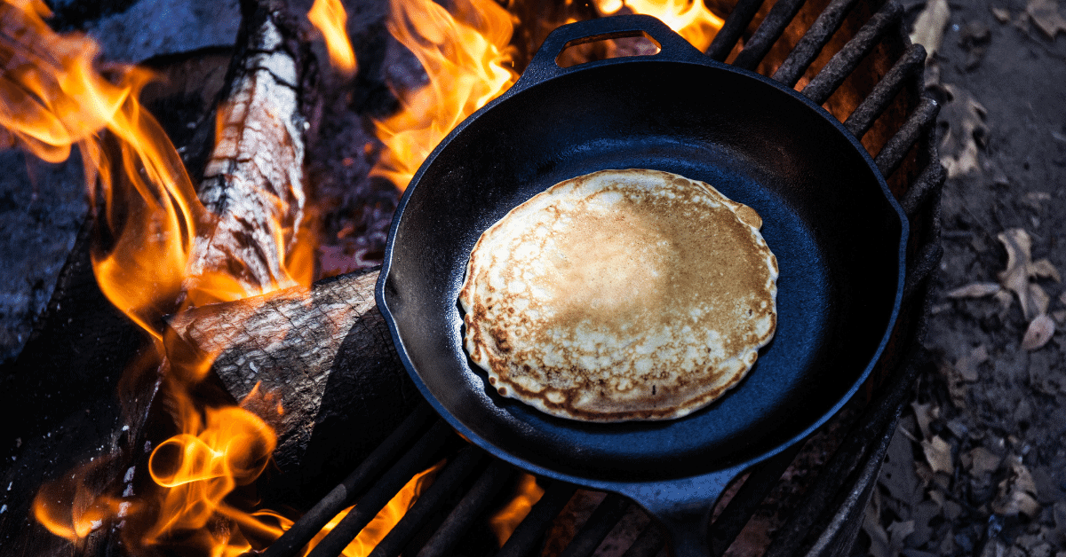
[[[956,178],[981,169],[978,138],[988,133],[988,111],[962,87],[946,84],[943,89],[951,100],[940,110],[940,119],[948,122],[948,132],[940,142],[940,160],[948,178]]]

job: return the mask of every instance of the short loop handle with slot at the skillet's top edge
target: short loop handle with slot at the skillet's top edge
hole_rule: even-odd
[[[653,58],[657,61],[695,61],[700,64],[706,64],[710,60],[681,35],[652,16],[627,14],[600,17],[561,26],[552,31],[533,55],[522,77],[511,88],[523,89],[584,66],[585,64],[578,64],[564,68],[555,62],[567,47],[609,38],[637,36],[649,37],[658,43],[660,52],[646,56],[628,56],[626,60]]]

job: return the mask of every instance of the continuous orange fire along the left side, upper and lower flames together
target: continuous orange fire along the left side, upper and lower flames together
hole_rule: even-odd
[[[138,102],[151,75],[126,65],[98,67],[97,45],[83,35],[54,33],[44,21],[49,16],[41,0],[0,2],[0,127],[9,143],[46,161],[63,161],[75,145],[81,151],[90,192],[103,203],[98,220],[106,234],[93,249],[97,282],[156,348],[127,374],[164,377],[167,408],[181,432],[150,456],[152,493],[131,492],[134,469],[120,497],[86,489],[82,480],[107,469],[98,459],[42,487],[34,515],[71,541],[126,521],[140,525],[124,529],[131,547],[178,543],[205,555],[240,554],[251,547],[248,536],[272,540],[284,526],[270,512],[248,513],[227,503],[235,489],[262,472],[274,432],[241,407],[203,408],[190,392],[210,361],[172,365],[158,324],[197,292],[246,296],[262,290],[233,288],[237,279],[221,272],[190,277],[194,243],[214,219],[162,128]]]

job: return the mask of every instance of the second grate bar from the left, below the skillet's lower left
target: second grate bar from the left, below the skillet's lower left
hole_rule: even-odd
[[[400,460],[374,486],[359,498],[352,512],[341,519],[333,531],[326,535],[311,550],[308,557],[335,557],[362,530],[377,512],[388,504],[407,481],[430,464],[430,459],[439,450],[445,441],[452,437],[452,430],[443,421],[437,420]]]

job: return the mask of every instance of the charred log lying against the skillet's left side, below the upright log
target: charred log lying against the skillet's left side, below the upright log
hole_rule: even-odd
[[[374,302],[376,281],[376,269],[353,273],[167,322],[172,361],[213,356],[237,400],[258,384],[243,406],[278,435],[280,491],[310,497],[332,487],[419,400]]]

